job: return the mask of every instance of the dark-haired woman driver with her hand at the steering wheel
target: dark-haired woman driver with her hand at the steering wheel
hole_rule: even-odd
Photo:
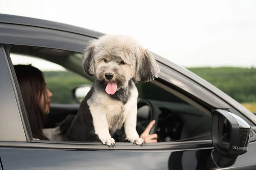
[[[14,69],[34,140],[62,139],[58,135],[58,127],[43,129],[45,117],[50,111],[50,98],[52,97],[52,93],[46,86],[44,74],[32,65],[14,65]],[[151,121],[140,135],[145,143],[157,142],[157,134],[149,135],[154,123],[154,121]]]

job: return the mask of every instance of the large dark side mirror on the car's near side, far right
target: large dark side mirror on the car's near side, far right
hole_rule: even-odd
[[[235,164],[239,155],[247,152],[252,128],[241,117],[217,109],[212,113],[211,159],[219,168]]]

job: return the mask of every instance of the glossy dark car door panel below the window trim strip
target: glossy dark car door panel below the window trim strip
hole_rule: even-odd
[[[0,149],[4,170],[200,170],[206,164],[198,158],[209,152]]]

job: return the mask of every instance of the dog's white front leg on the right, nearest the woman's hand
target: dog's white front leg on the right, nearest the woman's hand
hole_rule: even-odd
[[[144,140],[139,138],[136,130],[137,124],[137,104],[132,106],[131,110],[128,111],[127,117],[125,119],[125,134],[126,139],[132,143],[139,145],[145,144]]]

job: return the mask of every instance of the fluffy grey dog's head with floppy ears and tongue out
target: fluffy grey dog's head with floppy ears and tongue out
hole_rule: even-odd
[[[84,72],[105,82],[108,94],[125,87],[132,78],[148,82],[160,72],[153,55],[125,35],[105,35],[90,41],[81,59]]]

